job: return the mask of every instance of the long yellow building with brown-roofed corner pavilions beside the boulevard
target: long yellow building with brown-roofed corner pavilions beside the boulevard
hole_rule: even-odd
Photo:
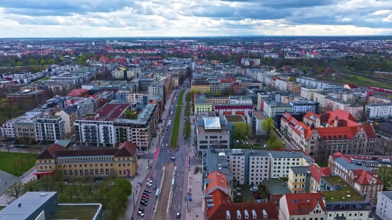
[[[53,144],[36,158],[37,179],[96,179],[103,177],[133,177],[138,167],[138,150],[132,142],[118,149],[66,150]]]

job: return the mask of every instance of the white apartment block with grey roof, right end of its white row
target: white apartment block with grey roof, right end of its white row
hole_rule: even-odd
[[[270,178],[289,177],[290,167],[301,167],[313,164],[314,161],[301,150],[270,151],[271,161],[269,175]]]

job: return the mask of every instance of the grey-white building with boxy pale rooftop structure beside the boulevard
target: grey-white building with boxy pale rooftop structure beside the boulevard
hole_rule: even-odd
[[[220,117],[204,117],[195,126],[197,150],[229,149],[230,133],[225,120]]]

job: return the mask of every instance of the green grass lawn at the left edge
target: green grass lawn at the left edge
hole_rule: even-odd
[[[16,177],[23,175],[34,166],[38,154],[0,152],[0,169]]]

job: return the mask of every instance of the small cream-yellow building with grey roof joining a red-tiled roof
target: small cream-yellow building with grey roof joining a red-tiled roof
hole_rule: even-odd
[[[290,167],[287,187],[293,193],[311,192],[320,190],[320,177],[329,176],[329,167],[319,167],[317,164],[309,166]]]

